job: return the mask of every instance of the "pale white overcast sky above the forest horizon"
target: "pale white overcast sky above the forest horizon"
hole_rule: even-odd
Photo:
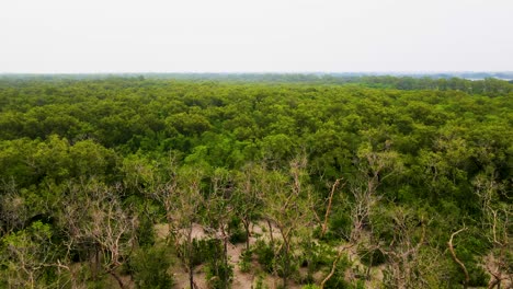
[[[513,0],[0,1],[0,72],[505,70]]]

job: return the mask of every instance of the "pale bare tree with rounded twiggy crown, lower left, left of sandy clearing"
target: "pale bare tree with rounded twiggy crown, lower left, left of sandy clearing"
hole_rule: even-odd
[[[93,181],[71,185],[65,212],[69,242],[78,248],[92,248],[92,264],[126,288],[117,269],[136,246],[137,216],[123,208],[121,186],[109,187]],[[94,268],[93,267],[93,268]]]

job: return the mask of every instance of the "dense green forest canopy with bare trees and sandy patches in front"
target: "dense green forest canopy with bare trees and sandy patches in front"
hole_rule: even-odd
[[[512,187],[497,79],[0,79],[0,288],[511,288]]]

